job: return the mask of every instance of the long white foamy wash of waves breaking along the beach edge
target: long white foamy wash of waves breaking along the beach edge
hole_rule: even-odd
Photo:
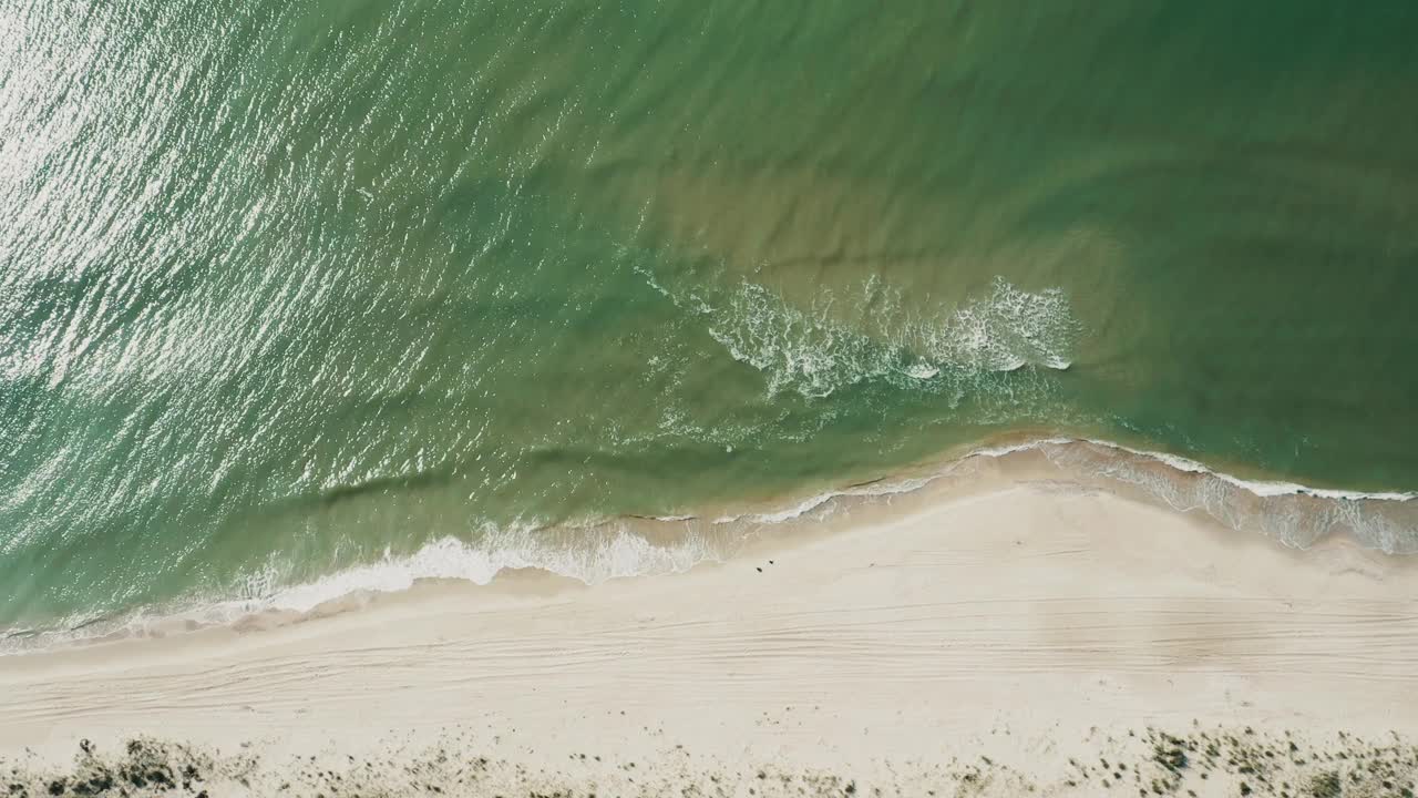
[[[1246,480],[1161,452],[1119,443],[1042,437],[981,446],[923,476],[881,479],[822,491],[778,510],[713,518],[613,518],[566,528],[486,528],[476,542],[441,538],[407,557],[343,569],[309,582],[279,584],[277,569],[252,575],[241,598],[191,598],[182,606],[150,609],[113,619],[72,619],[62,628],[14,633],[0,639],[0,655],[50,643],[112,635],[146,635],[193,626],[230,623],[262,612],[306,613],[329,602],[369,594],[397,592],[420,579],[459,579],[485,585],[503,569],[536,568],[590,585],[607,579],[676,574],[702,562],[723,561],[752,534],[778,524],[828,517],[841,500],[889,497],[919,490],[944,477],[968,479],[971,464],[1035,453],[1081,484],[1126,484],[1177,511],[1204,511],[1232,530],[1261,532],[1305,548],[1330,534],[1349,534],[1360,544],[1390,554],[1418,554],[1418,493],[1346,491],[1289,481]],[[659,542],[637,532],[651,524]]]

